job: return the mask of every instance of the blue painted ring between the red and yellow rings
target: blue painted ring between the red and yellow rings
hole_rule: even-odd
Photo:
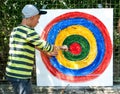
[[[55,57],[50,59],[51,64],[60,72],[70,76],[85,76],[92,73],[102,62],[105,54],[104,38],[99,30],[91,21],[84,18],[69,18],[56,23],[49,31],[47,41],[54,44],[59,31],[71,26],[81,25],[88,28],[94,35],[97,42],[97,56],[92,64],[81,69],[70,69],[62,66]],[[102,49],[102,50],[101,50]]]

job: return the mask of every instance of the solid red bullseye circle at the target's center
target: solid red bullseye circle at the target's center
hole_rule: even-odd
[[[69,51],[70,51],[72,54],[74,54],[74,55],[78,55],[78,54],[81,53],[82,48],[81,48],[81,46],[80,46],[79,43],[74,42],[74,43],[72,43],[72,44],[70,45]]]

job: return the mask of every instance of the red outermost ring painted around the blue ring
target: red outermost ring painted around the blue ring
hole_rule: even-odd
[[[56,68],[54,68],[50,63],[49,58],[45,54],[41,53],[41,56],[42,56],[43,62],[45,63],[47,69],[55,77],[65,80],[65,81],[68,81],[68,82],[85,82],[85,81],[89,81],[89,80],[95,79],[98,76],[100,76],[105,71],[107,66],[109,65],[109,62],[110,62],[110,59],[112,56],[112,52],[113,52],[112,43],[111,43],[111,39],[109,37],[109,33],[108,33],[106,27],[104,26],[104,24],[100,20],[98,20],[96,17],[94,17],[90,14],[86,14],[83,12],[69,12],[69,13],[60,15],[60,16],[56,17],[55,19],[53,19],[45,27],[44,31],[46,31],[46,32],[43,32],[41,37],[46,40],[49,30],[52,28],[52,26],[55,23],[57,23],[61,20],[64,20],[64,19],[76,18],[76,17],[85,18],[85,19],[93,22],[93,24],[95,24],[96,27],[99,28],[99,30],[101,31],[101,33],[104,37],[106,52],[105,52],[103,61],[101,62],[99,67],[94,72],[92,72],[91,74],[86,75],[86,76],[69,76],[69,75],[65,75],[65,74],[59,72]]]

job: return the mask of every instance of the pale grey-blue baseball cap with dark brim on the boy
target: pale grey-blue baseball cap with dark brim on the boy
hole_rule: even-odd
[[[43,15],[46,13],[47,13],[47,11],[39,10],[36,6],[34,6],[32,4],[27,4],[22,9],[23,18],[29,18],[29,17],[35,16],[38,14]]]

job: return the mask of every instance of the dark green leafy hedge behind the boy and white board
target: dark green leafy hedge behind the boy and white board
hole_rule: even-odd
[[[0,0],[0,81],[4,81],[11,30],[20,24],[21,10],[26,4],[46,9],[98,8],[98,4],[103,8],[113,8],[113,78],[114,82],[120,82],[120,0]]]

